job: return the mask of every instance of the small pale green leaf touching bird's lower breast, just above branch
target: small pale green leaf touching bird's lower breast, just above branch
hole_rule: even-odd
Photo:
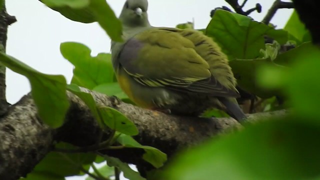
[[[92,90],[104,93],[106,95],[115,95],[120,99],[128,98],[117,82],[102,83],[95,86]]]

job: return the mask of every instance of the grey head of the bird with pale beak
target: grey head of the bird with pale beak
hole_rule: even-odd
[[[147,0],[126,0],[119,19],[126,26],[148,26],[147,9]]]

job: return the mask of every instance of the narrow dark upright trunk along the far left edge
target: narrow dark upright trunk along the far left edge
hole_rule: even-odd
[[[4,0],[2,4],[2,9],[0,9],[0,51],[5,52],[6,46],[6,32],[7,27],[11,23],[15,22],[16,19],[14,16],[10,16],[7,14]],[[0,116],[3,115],[8,107],[9,104],[6,102],[5,98],[5,66],[0,65]]]

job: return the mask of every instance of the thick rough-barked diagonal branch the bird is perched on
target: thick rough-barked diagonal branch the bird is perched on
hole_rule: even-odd
[[[204,119],[181,117],[157,111],[142,109],[117,101],[114,97],[90,92],[96,103],[111,106],[124,113],[137,126],[139,134],[134,138],[144,145],[159,148],[168,156],[178,149],[190,146],[204,139],[225,132],[228,127],[240,127],[232,118]],[[51,150],[54,140],[65,141],[78,146],[96,143],[100,129],[90,110],[77,96],[68,93],[71,106],[65,124],[51,129],[36,116],[36,107],[30,95],[24,96],[12,105],[0,119],[0,177],[16,179],[25,176],[44,155]],[[249,115],[254,121],[260,117],[283,115],[285,111]],[[108,134],[104,134],[106,139]],[[144,167],[139,149],[103,150],[101,153],[116,156],[123,161]]]

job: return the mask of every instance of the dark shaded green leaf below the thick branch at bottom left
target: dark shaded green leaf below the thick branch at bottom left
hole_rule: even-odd
[[[75,146],[63,142],[55,145],[57,148],[74,149]],[[33,168],[32,172],[27,174],[28,179],[64,179],[64,176],[80,174],[81,167],[91,164],[95,159],[94,153],[62,153],[49,152]],[[87,169],[88,170],[87,166]],[[42,180],[41,179],[41,180]]]

